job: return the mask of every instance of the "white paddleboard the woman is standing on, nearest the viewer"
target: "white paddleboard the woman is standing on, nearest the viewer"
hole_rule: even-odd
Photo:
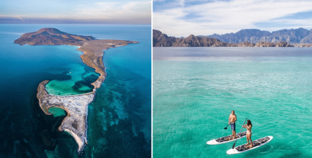
[[[273,137],[268,136],[268,137],[263,137],[260,139],[257,139],[255,141],[252,141],[252,148],[249,148],[250,144],[246,146],[246,144],[243,144],[241,146],[236,146],[234,149],[229,149],[227,150],[228,155],[233,155],[233,154],[239,154],[241,152],[246,152],[255,148],[259,148],[260,146],[264,146],[265,144],[268,144],[268,142],[272,141]]]

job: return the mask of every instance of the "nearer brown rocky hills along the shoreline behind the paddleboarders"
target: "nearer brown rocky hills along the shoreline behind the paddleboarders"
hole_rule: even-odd
[[[258,42],[256,44],[244,41],[241,43],[226,43],[213,37],[189,35],[186,38],[168,37],[159,30],[153,30],[153,47],[293,47],[286,41],[277,43]]]

